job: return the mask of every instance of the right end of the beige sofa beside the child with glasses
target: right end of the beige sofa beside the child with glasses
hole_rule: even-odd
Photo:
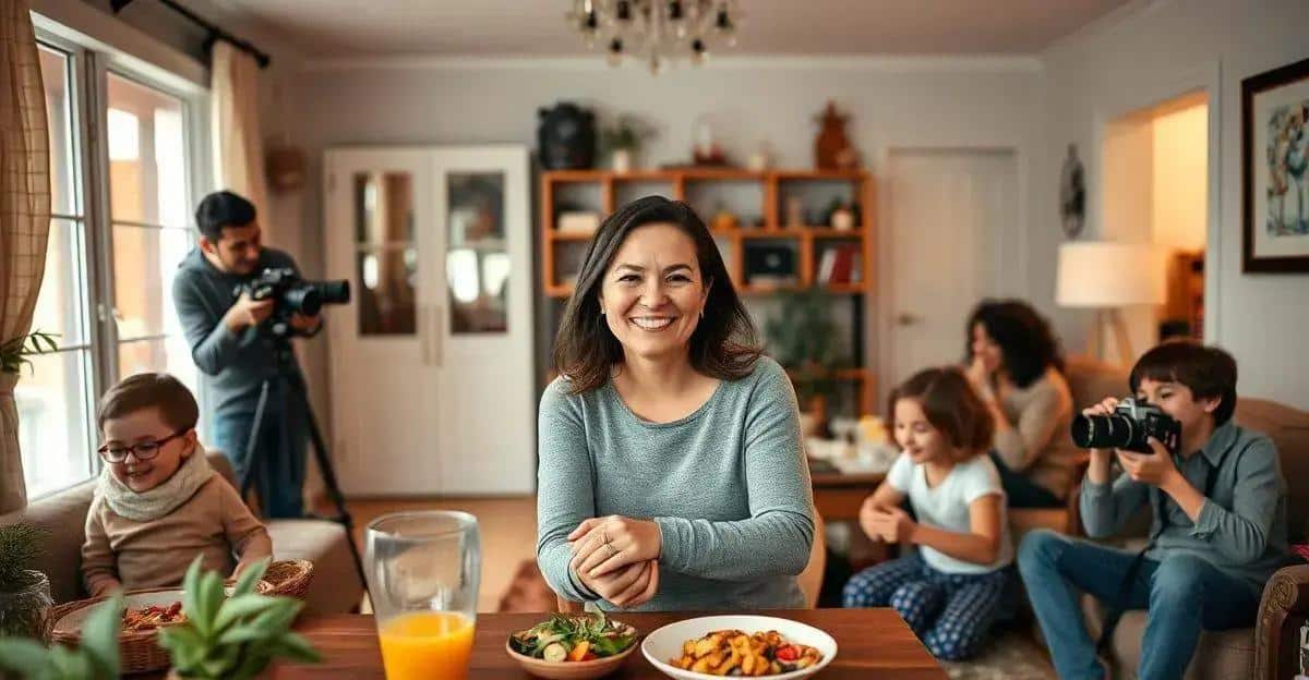
[[[266,524],[275,560],[314,564],[313,581],[305,594],[306,611],[339,613],[359,605],[364,586],[346,543],[346,527],[322,519],[272,519]]]

